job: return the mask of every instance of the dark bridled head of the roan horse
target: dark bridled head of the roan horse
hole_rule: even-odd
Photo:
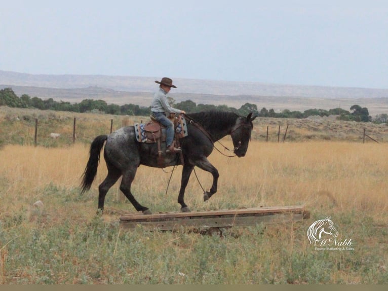
[[[244,157],[248,150],[248,143],[253,129],[252,121],[255,118],[256,116],[252,117],[252,113],[248,114],[247,117],[239,117],[230,131],[235,147],[234,153],[238,157]]]

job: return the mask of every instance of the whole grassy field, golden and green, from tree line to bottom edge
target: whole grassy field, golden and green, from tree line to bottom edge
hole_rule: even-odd
[[[210,156],[220,173],[218,193],[203,202],[192,175],[186,203],[193,211],[304,205],[311,217],[212,237],[184,229],[122,229],[119,217],[135,210],[118,185],[107,195],[104,214],[96,215],[97,188],[106,174],[103,159],[92,189],[83,195],[80,177],[88,140],[107,133],[111,117],[77,116],[85,132],[72,144],[72,117],[19,113],[41,115],[42,143],[34,147],[28,121],[20,125],[8,110],[0,115],[0,283],[388,283],[385,127],[332,121],[331,129],[324,130],[329,121],[257,121],[246,157],[225,158],[216,151]],[[119,118],[113,121],[120,123]],[[46,124],[52,124],[49,130],[43,128]],[[284,134],[287,124],[286,142],[277,142],[278,125]],[[274,128],[269,142],[267,125]],[[364,126],[379,143],[362,142]],[[42,133],[46,131],[63,134],[52,141]],[[225,138],[223,143],[231,142]],[[173,173],[166,195],[170,173],[140,166],[132,191],[153,212],[179,211],[180,171],[177,167]],[[209,189],[210,174],[199,169],[197,174]],[[34,206],[38,200],[43,205]],[[351,249],[322,251],[309,243],[308,227],[326,216],[339,238],[352,239]]]

